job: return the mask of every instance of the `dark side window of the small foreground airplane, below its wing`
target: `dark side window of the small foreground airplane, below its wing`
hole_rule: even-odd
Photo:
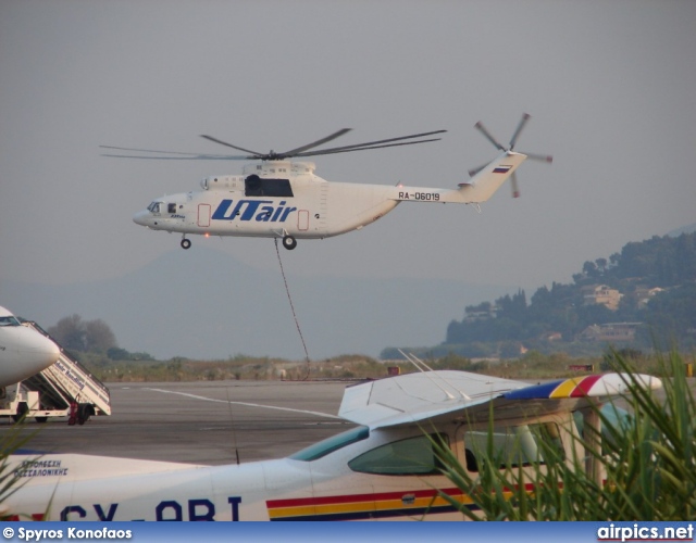
[[[353,458],[348,467],[353,471],[375,475],[439,473],[440,464],[433,442],[449,443],[447,434],[418,435],[394,441]]]

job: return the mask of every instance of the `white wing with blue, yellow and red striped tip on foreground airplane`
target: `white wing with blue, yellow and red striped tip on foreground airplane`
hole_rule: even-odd
[[[638,376],[646,388],[659,389],[659,379]],[[530,384],[465,371],[408,374],[346,389],[338,415],[371,429],[424,420],[484,420],[493,402],[496,420],[521,414],[540,415],[576,409],[588,397],[626,392],[619,374],[593,375]]]

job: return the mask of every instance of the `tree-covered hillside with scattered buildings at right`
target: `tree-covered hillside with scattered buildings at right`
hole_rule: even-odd
[[[696,233],[655,236],[626,243],[609,258],[585,262],[573,283],[523,290],[464,308],[446,340],[412,349],[434,356],[515,357],[544,353],[593,354],[607,344],[649,350],[655,343],[696,348]],[[383,358],[399,358],[385,349]]]

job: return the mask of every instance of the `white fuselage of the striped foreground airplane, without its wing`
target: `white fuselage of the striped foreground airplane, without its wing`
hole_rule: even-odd
[[[566,428],[568,417],[543,420]],[[465,465],[464,428],[443,425],[437,432]],[[300,452],[213,467],[76,454],[13,457],[26,484],[8,506],[11,515],[70,521],[463,519],[438,491],[464,504],[472,501],[437,472],[422,428],[358,427],[341,435],[343,446],[334,440],[336,450],[319,458]],[[566,443],[572,446],[573,438]],[[398,444],[403,444],[400,452]],[[401,457],[405,451],[420,457],[409,462]]]

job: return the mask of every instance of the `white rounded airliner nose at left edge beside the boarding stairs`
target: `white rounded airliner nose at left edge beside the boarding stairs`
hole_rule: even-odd
[[[37,330],[23,326],[0,307],[0,387],[8,387],[55,364],[58,345]]]

